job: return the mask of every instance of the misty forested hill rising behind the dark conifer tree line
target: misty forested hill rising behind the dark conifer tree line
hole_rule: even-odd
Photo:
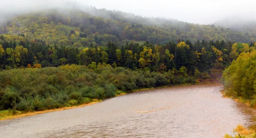
[[[89,13],[90,12],[90,13]],[[180,40],[224,40],[250,43],[252,34],[217,26],[185,23],[173,19],[135,16],[121,11],[87,7],[83,10],[47,10],[21,14],[2,21],[0,34],[23,34],[49,45],[106,46],[109,41],[148,41],[165,44]],[[1,23],[1,22],[0,22]]]

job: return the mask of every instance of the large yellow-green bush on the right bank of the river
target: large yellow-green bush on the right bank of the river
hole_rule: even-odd
[[[251,99],[256,95],[256,50],[241,53],[232,64],[224,70],[221,83],[227,94],[233,97]]]

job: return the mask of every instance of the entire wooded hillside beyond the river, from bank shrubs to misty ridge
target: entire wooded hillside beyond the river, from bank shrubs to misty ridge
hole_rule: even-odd
[[[18,15],[0,34],[0,110],[23,112],[197,83],[256,47],[250,33],[92,7]]]

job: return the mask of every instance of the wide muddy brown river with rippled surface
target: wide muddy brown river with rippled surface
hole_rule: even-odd
[[[0,121],[0,138],[222,138],[256,112],[222,98],[221,84],[172,86],[101,103]]]

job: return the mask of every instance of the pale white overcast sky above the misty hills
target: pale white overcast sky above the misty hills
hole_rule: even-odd
[[[98,9],[131,12],[146,17],[166,17],[189,23],[210,24],[225,17],[255,17],[255,0],[70,0]],[[61,6],[63,0],[0,0],[0,9],[37,10]]]

